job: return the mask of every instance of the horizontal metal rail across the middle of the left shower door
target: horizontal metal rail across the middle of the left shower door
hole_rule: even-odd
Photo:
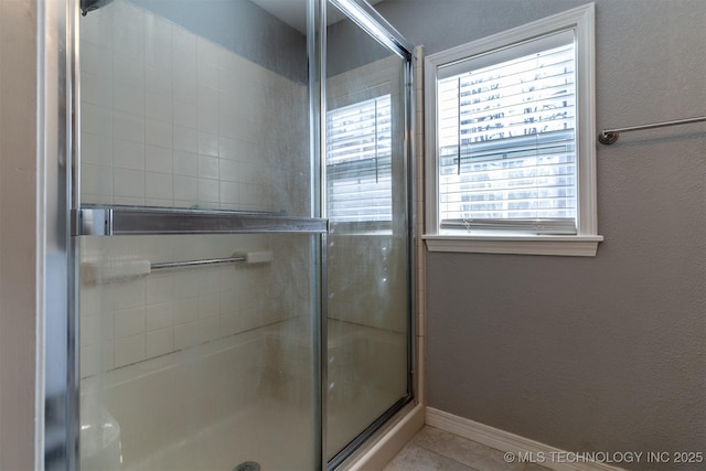
[[[282,213],[178,210],[168,207],[90,206],[72,212],[72,235],[165,234],[323,234],[329,221]]]

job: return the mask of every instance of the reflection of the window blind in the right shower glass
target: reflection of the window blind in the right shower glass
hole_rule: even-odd
[[[391,95],[328,111],[327,196],[334,223],[392,221]]]

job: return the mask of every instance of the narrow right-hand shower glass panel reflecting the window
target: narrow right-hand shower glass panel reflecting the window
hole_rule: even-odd
[[[328,397],[333,458],[407,397],[405,60],[329,4]]]

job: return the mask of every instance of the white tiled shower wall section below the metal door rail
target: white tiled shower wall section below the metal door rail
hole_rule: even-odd
[[[214,258],[272,247],[275,258],[266,264],[239,263],[83,282],[82,376],[287,319],[308,318],[310,280],[289,275],[292,264],[308,271],[308,237],[169,236],[169,244],[163,236],[84,238],[82,251],[101,254],[98,260],[108,267],[125,259]]]

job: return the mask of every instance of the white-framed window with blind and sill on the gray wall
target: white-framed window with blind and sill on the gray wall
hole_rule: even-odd
[[[596,254],[592,19],[427,57],[430,250]]]

